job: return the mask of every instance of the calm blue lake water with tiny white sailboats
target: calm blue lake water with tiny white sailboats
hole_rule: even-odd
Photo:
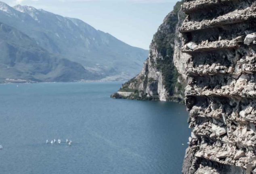
[[[120,85],[0,85],[0,174],[181,174],[185,106],[111,99]]]

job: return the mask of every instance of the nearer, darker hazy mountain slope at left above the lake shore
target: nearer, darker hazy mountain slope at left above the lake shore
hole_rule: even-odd
[[[17,29],[0,23],[0,82],[66,82],[99,78],[79,63],[59,59]]]

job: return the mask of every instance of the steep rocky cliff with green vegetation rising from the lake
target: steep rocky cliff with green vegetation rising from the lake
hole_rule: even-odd
[[[185,66],[188,54],[180,53],[182,46],[178,28],[182,25],[185,14],[180,11],[182,2],[177,2],[174,10],[164,19],[155,33],[150,45],[149,57],[143,70],[119,90],[134,92],[130,96],[113,94],[113,98],[130,98],[139,100],[175,100],[183,101],[187,84]]]

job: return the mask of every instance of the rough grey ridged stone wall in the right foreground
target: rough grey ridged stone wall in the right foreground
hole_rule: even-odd
[[[186,0],[183,174],[256,174],[256,0]]]

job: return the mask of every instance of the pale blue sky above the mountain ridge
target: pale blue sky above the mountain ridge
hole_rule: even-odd
[[[178,0],[0,0],[79,18],[129,45],[149,49],[153,35]]]

